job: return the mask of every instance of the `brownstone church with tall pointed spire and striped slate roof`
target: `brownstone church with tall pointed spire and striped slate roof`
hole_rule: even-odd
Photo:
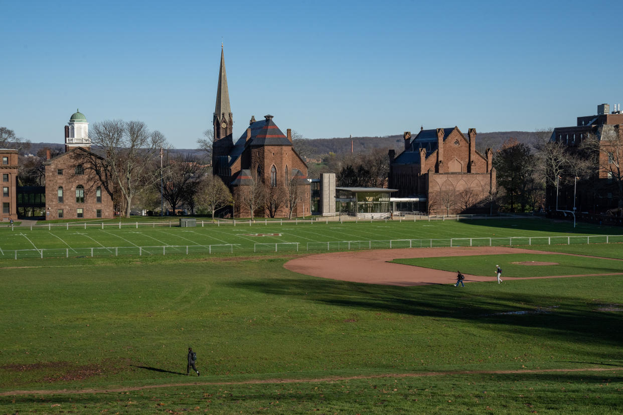
[[[241,199],[242,195],[249,191],[256,177],[264,184],[264,194],[268,195],[263,207],[255,212],[256,215],[269,215],[269,207],[271,203],[275,203],[274,198],[277,197],[270,195],[282,195],[282,192],[272,190],[285,191],[290,183],[297,184],[297,198],[299,199],[292,215],[302,216],[311,213],[307,164],[293,149],[292,133],[289,128],[287,134],[283,134],[273,122],[272,115],[266,115],[260,121],[256,121],[255,116],[252,116],[246,131],[234,143],[234,118],[229,104],[222,49],[212,124],[214,126],[212,173],[218,175],[231,190],[235,200],[235,217],[250,216],[249,210],[245,209]],[[275,206],[277,206],[276,213],[273,213],[275,217],[288,216],[286,206],[282,203],[275,204]]]

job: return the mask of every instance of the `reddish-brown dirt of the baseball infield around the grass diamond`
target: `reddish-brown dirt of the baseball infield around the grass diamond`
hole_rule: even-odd
[[[303,256],[292,259],[283,266],[295,273],[338,279],[340,281],[365,282],[366,284],[381,284],[388,286],[422,286],[427,284],[450,284],[457,280],[456,272],[441,271],[440,269],[422,268],[411,265],[389,263],[396,258],[432,258],[435,256],[470,256],[491,254],[561,254],[558,252],[535,251],[534,249],[509,248],[504,246],[478,246],[457,248],[406,248],[406,249],[374,249],[371,251],[332,252]],[[573,255],[573,254],[568,254]],[[581,255],[584,256],[584,255]],[[594,258],[594,257],[593,257]],[[611,258],[606,258],[611,259]],[[477,276],[465,274],[468,281],[496,281],[493,272],[491,276]],[[591,274],[592,275],[623,275]],[[588,275],[586,275],[588,276]],[[559,275],[551,277],[504,277],[504,280],[564,278],[576,275]]]

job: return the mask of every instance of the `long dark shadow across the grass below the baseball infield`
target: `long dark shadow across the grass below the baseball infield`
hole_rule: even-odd
[[[604,353],[623,342],[621,316],[597,312],[596,304],[579,294],[576,297],[564,296],[564,293],[549,295],[498,289],[470,292],[450,284],[405,288],[310,277],[232,281],[227,284],[236,289],[287,296],[300,301],[363,311],[464,320],[489,324],[493,330],[500,332],[531,337],[542,335],[571,343],[593,344],[597,348],[607,345]],[[559,286],[558,290],[563,291]],[[558,292],[555,289],[547,291]],[[516,311],[526,313],[510,314]]]

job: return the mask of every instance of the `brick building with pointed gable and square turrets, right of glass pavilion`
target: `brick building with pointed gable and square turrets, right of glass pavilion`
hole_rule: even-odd
[[[396,210],[454,214],[487,210],[483,199],[495,190],[493,152],[476,150],[476,130],[467,138],[459,128],[421,129],[411,140],[404,133],[404,151],[389,151],[389,187]],[[401,205],[403,206],[401,208]],[[404,206],[407,206],[405,208]]]

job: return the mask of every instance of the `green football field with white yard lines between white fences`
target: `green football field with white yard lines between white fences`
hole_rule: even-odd
[[[359,223],[277,223],[222,225],[196,228],[132,225],[84,228],[0,228],[0,258],[43,256],[116,256],[123,254],[249,253],[250,251],[326,251],[357,248],[457,245],[552,245],[586,243],[580,235],[620,235],[621,228],[543,219],[490,219],[468,221],[381,221]],[[553,240],[548,238],[554,237]],[[571,238],[567,238],[571,236]],[[508,238],[513,237],[514,241]],[[528,238],[536,238],[529,241]],[[480,238],[473,239],[470,238]],[[492,238],[489,240],[488,238]],[[340,243],[340,241],[351,241]],[[358,241],[356,243],[352,241]],[[605,242],[593,236],[592,242]],[[623,242],[623,236],[609,241]],[[277,244],[277,246],[275,246]],[[188,246],[188,248],[186,248]],[[141,247],[139,249],[139,247]],[[115,249],[116,248],[116,249]],[[41,251],[41,250],[44,251]],[[93,250],[92,250],[93,249]]]

